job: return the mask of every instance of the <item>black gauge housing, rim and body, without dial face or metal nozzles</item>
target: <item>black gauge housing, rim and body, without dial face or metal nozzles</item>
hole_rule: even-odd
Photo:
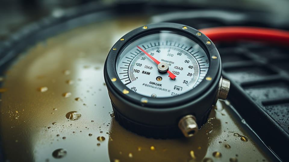
[[[141,95],[129,89],[117,74],[116,62],[123,49],[137,39],[160,31],[171,31],[196,42],[210,61],[206,79],[178,96],[154,98]],[[181,135],[178,123],[186,115],[193,115],[200,129],[207,122],[221,75],[221,59],[213,42],[200,31],[177,23],[156,23],[132,30],[113,45],[104,64],[104,79],[115,119],[130,131],[153,138]],[[146,102],[141,102],[144,97]]]

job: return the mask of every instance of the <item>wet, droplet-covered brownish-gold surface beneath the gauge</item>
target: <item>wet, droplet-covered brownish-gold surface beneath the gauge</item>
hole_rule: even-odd
[[[21,54],[0,88],[6,158],[271,161],[271,153],[236,117],[228,101],[218,102],[208,122],[190,139],[149,139],[114,120],[103,64],[121,36],[146,23],[139,17],[104,21],[54,36]]]

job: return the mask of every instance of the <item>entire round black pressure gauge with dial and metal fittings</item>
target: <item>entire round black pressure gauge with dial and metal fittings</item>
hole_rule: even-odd
[[[193,136],[217,99],[226,99],[219,53],[210,39],[176,23],[142,26],[120,38],[104,65],[116,120],[153,138]]]

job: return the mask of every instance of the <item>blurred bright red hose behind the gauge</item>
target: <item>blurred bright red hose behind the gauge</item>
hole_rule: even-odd
[[[254,40],[278,43],[289,47],[289,31],[247,26],[223,26],[200,29],[213,42],[235,42],[237,40]]]

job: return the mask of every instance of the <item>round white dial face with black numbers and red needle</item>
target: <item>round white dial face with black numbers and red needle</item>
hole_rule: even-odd
[[[168,66],[168,71],[160,72],[163,69],[158,69],[159,63]],[[128,89],[163,98],[194,89],[206,76],[209,65],[206,52],[196,42],[162,31],[127,45],[118,55],[116,69]]]

